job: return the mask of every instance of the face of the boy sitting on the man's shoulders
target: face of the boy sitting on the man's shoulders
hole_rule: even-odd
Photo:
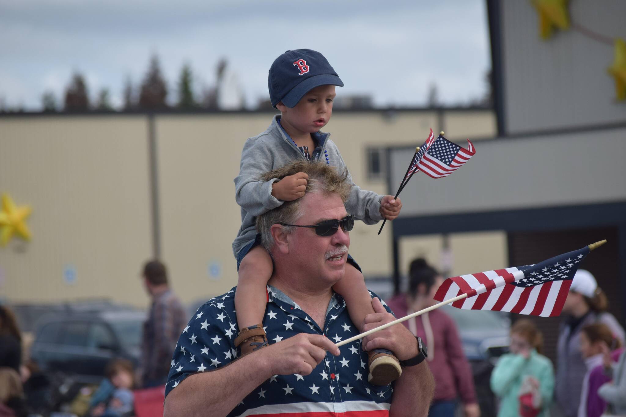
[[[292,108],[279,102],[276,107],[282,113],[281,123],[286,121],[292,128],[302,133],[317,132],[331,119],[332,101],[335,96],[335,86],[326,85],[304,94]]]

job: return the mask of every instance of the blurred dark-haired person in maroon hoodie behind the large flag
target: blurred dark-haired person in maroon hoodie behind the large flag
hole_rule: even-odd
[[[436,304],[434,294],[443,283],[443,277],[424,259],[418,258],[409,267],[409,292],[398,294],[388,305],[403,317],[414,311]],[[461,338],[454,320],[441,309],[435,309],[416,318],[404,321],[415,336],[426,344],[428,366],[433,372],[435,391],[429,417],[453,417],[456,401],[460,397],[466,417],[479,417],[473,376],[463,353]]]

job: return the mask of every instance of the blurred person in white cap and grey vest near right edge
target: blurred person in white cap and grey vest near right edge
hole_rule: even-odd
[[[580,351],[580,333],[584,326],[604,323],[623,344],[624,330],[612,314],[607,313],[608,301],[593,275],[578,269],[570,293],[563,304],[564,320],[557,343],[557,403],[565,417],[578,415],[583,378],[587,373]]]

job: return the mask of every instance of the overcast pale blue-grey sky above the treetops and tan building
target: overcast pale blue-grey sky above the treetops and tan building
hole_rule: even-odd
[[[0,99],[41,108],[80,71],[90,96],[108,88],[121,103],[126,76],[138,84],[160,58],[168,98],[183,63],[195,87],[215,83],[226,58],[254,107],[267,71],[287,49],[323,53],[346,86],[377,106],[420,106],[429,85],[439,101],[466,103],[486,91],[491,66],[484,0],[0,0]]]

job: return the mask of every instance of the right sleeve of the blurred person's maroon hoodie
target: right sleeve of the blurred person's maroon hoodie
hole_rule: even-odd
[[[461,401],[463,401],[463,404],[476,403],[476,390],[471,368],[463,352],[459,331],[456,329],[456,324],[454,324],[452,319],[449,319],[446,324],[446,348],[448,361],[452,369],[454,369],[454,379],[456,380],[456,387]]]

